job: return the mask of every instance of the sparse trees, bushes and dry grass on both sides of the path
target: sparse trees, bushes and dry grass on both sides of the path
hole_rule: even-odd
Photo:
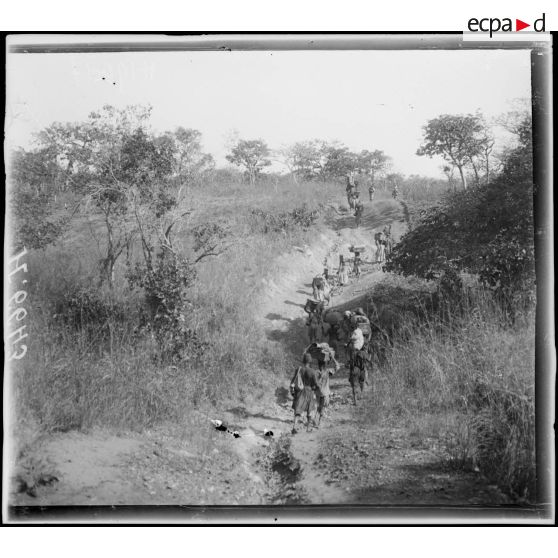
[[[294,356],[254,317],[264,280],[318,242],[355,172],[380,199],[397,184],[407,219],[367,293],[391,334],[356,412],[438,436],[448,466],[534,502],[529,114],[508,115],[507,146],[482,115],[427,123],[418,154],[444,158],[442,180],[320,140],[239,140],[234,166],[217,168],[198,131],[154,133],[149,113],[53,123],[8,161],[10,252],[28,265],[28,352],[10,363],[21,451],[53,432],[179,423],[284,384]]]

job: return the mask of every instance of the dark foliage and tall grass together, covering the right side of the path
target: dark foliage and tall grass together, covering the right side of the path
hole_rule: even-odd
[[[378,314],[380,323],[406,327],[391,327],[387,351],[384,345],[370,420],[381,409],[409,418],[418,434],[429,417],[424,435],[437,422],[448,463],[480,470],[518,503],[533,502],[530,126],[521,128],[519,146],[506,154],[502,172],[489,184],[448,193],[431,208],[410,207],[410,230],[385,269],[409,280],[434,280],[422,289],[434,286],[435,292],[416,296],[426,301],[425,312],[412,312],[411,320],[405,314],[416,304],[402,306],[400,294],[392,297],[395,303],[375,290],[376,305],[389,310]],[[488,289],[479,289],[476,280]]]

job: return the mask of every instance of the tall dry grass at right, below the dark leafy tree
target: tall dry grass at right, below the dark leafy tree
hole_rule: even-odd
[[[368,421],[403,420],[444,440],[448,463],[478,468],[519,502],[536,497],[534,313],[510,324],[486,291],[395,336],[374,373]]]

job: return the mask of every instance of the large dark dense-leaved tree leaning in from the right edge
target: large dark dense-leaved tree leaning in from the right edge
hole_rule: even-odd
[[[435,279],[466,271],[503,296],[534,289],[533,176],[530,119],[518,126],[518,146],[488,185],[449,195],[425,212],[391,254],[386,269]]]

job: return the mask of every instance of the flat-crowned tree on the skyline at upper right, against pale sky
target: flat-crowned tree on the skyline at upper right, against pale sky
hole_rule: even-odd
[[[479,115],[443,114],[428,121],[424,126],[424,141],[417,155],[434,157],[440,155],[459,171],[463,188],[467,188],[465,167],[472,165],[475,174],[478,170],[475,158],[483,150],[486,127]]]

